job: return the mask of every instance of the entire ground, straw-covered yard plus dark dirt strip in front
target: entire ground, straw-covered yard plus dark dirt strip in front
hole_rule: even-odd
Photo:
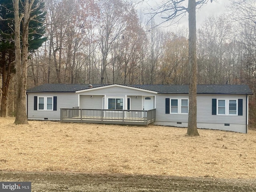
[[[0,181],[34,192],[256,192],[255,130],[0,122]]]

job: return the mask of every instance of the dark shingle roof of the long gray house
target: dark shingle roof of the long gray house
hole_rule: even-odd
[[[30,88],[27,92],[76,92],[86,90],[89,84],[44,84]],[[93,88],[106,84],[92,84]],[[188,94],[188,85],[127,85],[162,94]],[[198,94],[252,94],[247,85],[198,85]]]

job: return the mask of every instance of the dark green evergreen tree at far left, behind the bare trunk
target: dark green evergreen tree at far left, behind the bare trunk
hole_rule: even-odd
[[[35,5],[39,0],[35,0]],[[24,0],[21,1],[24,3]],[[22,6],[20,2],[20,12]],[[35,7],[34,7],[35,8]],[[44,3],[31,14],[33,18],[29,23],[28,50],[34,52],[42,43],[46,41],[45,34],[45,16]],[[22,22],[21,31],[22,34]],[[21,38],[22,44],[22,38]],[[15,52],[14,52],[14,8],[12,1],[0,0],[0,74],[2,74],[2,100],[0,116],[7,116],[7,95],[10,78],[15,73]]]

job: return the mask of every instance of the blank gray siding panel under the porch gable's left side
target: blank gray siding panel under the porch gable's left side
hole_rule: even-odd
[[[102,109],[101,95],[80,95],[80,108],[81,109]]]

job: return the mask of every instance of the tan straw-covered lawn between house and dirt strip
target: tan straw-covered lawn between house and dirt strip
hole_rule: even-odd
[[[256,178],[255,130],[0,122],[0,170]]]

